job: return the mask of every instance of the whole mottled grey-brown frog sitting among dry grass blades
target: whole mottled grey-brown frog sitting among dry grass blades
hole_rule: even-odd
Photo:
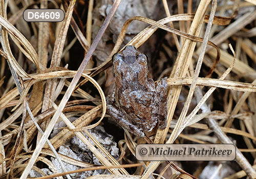
[[[144,137],[159,121],[166,128],[166,78],[155,83],[147,76],[147,57],[134,46],[113,56],[113,93],[107,98],[107,113],[135,136]]]

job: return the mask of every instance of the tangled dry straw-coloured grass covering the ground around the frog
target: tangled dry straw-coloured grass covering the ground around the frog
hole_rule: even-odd
[[[58,171],[51,161],[57,155],[62,168],[81,168],[75,173],[104,169],[91,178],[256,178],[255,1],[123,0],[117,8],[119,3],[0,1],[0,177],[26,178],[31,169],[45,176],[42,168],[50,168],[54,177],[82,178]],[[37,8],[61,8],[65,19],[26,22],[24,10]],[[168,77],[170,127],[155,128],[144,140],[105,115],[105,96],[113,89],[111,57],[127,44],[141,46],[155,81]],[[60,121],[65,127],[55,126]],[[95,139],[97,125],[114,138],[100,132],[103,137]],[[58,153],[60,146],[72,146],[74,136],[87,149],[69,150],[90,160]],[[102,143],[106,136],[118,143],[119,159],[109,149],[114,141]],[[232,142],[237,158],[139,162],[135,146],[146,142]]]

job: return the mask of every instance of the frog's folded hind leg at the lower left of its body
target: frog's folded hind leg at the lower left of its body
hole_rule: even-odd
[[[139,138],[144,137],[144,132],[139,127],[131,124],[116,106],[106,105],[106,111],[124,129],[127,129]]]

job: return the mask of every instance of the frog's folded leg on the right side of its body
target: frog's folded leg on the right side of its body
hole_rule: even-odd
[[[159,122],[161,129],[167,127],[167,78],[162,78],[157,82],[153,105],[152,105],[152,118]]]

